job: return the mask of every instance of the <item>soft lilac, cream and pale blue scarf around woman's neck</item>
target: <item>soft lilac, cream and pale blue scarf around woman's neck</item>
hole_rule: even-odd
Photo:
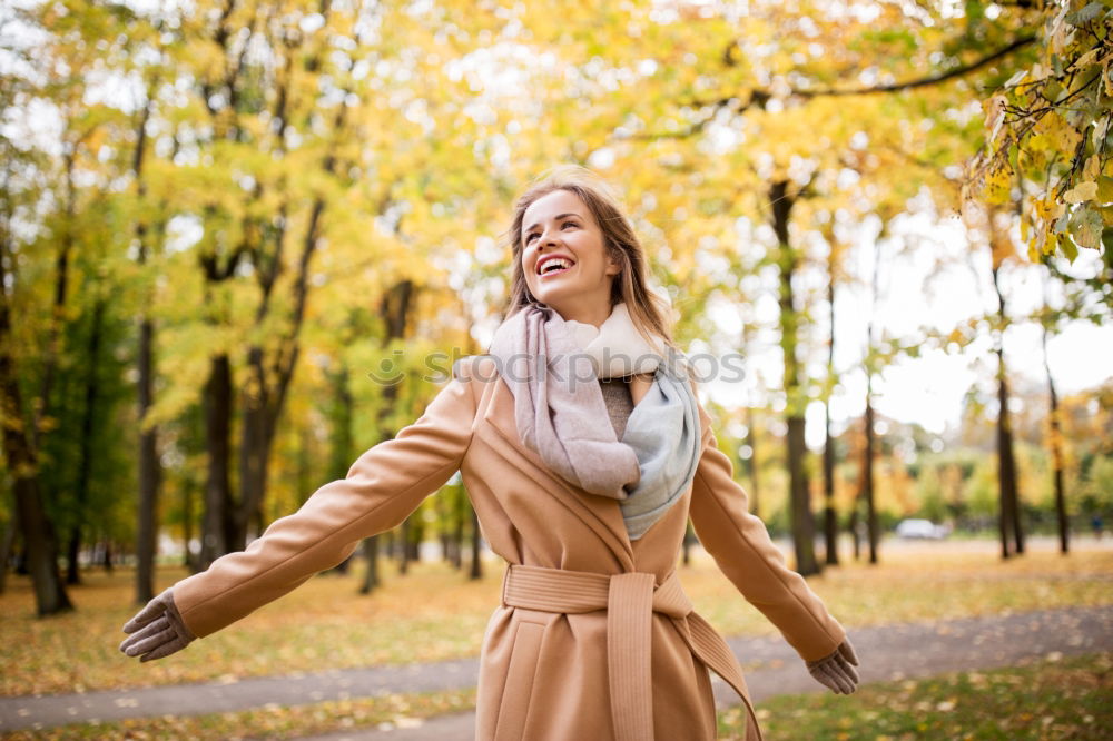
[[[522,443],[571,484],[620,500],[631,540],[683,495],[699,462],[688,366],[667,352],[642,338],[621,303],[598,328],[530,305],[503,322],[491,343],[514,395]],[[598,379],[633,373],[653,373],[653,381],[620,441]]]

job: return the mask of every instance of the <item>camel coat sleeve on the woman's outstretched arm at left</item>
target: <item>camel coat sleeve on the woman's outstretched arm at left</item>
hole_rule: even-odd
[[[318,488],[247,550],[174,585],[174,602],[203,638],[277,600],[390,530],[460,467],[472,438],[474,378],[453,377],[413,424],[361,455],[345,478]]]

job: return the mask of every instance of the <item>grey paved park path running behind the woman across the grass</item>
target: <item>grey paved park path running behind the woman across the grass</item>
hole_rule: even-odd
[[[1113,605],[1017,612],[984,618],[876,625],[850,631],[861,658],[863,682],[992,669],[1025,659],[1113,651]],[[756,702],[778,694],[819,691],[792,649],[778,638],[728,639]],[[81,694],[0,698],[0,732],[147,715],[194,715],[295,705],[376,694],[434,692],[474,686],[475,659],[378,666],[313,674],[245,679],[234,683],[178,684]],[[716,678],[720,708],[738,699]],[[314,741],[421,741],[471,739],[474,715],[461,713],[404,728],[347,731]]]

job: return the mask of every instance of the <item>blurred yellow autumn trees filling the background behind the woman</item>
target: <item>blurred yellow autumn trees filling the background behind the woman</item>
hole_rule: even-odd
[[[484,350],[561,162],[620,188],[681,345],[746,358],[708,404],[801,572],[908,516],[1067,549],[1113,508],[1113,383],[1051,374],[1113,307],[1111,6],[7,3],[2,573],[46,614],[135,563],[141,602],[157,553],[204,569],[343,476]],[[938,320],[897,330],[909,269]],[[945,429],[877,398],[929,353],[975,373]],[[446,488],[364,589],[380,551],[479,552]]]

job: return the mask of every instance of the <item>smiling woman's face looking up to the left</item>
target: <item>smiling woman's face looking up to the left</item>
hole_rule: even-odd
[[[565,320],[599,326],[611,314],[611,283],[621,267],[607,255],[591,210],[569,190],[554,190],[525,209],[522,269],[539,302]]]

